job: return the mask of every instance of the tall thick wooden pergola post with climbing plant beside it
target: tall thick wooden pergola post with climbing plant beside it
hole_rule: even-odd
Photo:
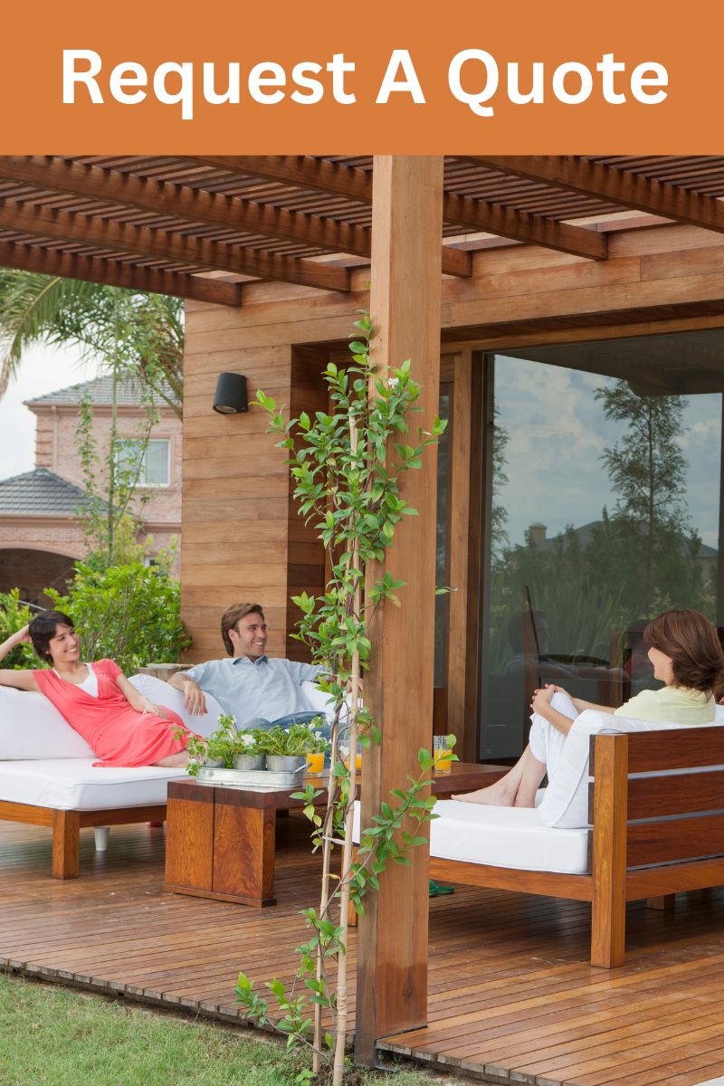
[[[437,414],[440,384],[443,160],[377,156],[373,169],[371,357],[378,372],[411,359],[412,377],[422,387],[422,414],[410,421],[428,429]],[[392,788],[419,772],[417,752],[429,748],[432,736],[434,449],[425,452],[420,470],[405,476],[402,493],[421,516],[403,518],[388,559],[393,576],[406,582],[398,593],[402,607],[385,606],[373,619],[365,697],[382,745],[372,745],[363,759],[363,825]],[[378,1038],[427,1021],[427,848],[412,849],[409,867],[392,863],[380,883],[359,919],[355,1057],[367,1065],[374,1062]]]

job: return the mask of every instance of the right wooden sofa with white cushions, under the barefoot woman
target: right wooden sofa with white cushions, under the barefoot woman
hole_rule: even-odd
[[[721,723],[582,714],[535,809],[436,805],[431,877],[590,901],[590,963],[621,965],[626,901],[724,884]]]

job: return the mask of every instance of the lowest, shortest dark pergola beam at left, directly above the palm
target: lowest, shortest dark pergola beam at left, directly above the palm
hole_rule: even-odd
[[[62,276],[65,279],[84,279],[105,282],[127,290],[143,290],[152,294],[175,294],[195,302],[215,305],[241,305],[241,283],[223,282],[202,276],[157,268],[137,267],[122,261],[98,256],[79,256],[77,253],[42,249],[40,245],[17,244],[0,240],[0,264],[3,267],[39,272],[41,275]]]

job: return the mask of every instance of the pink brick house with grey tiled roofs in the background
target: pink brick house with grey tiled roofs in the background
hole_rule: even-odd
[[[100,457],[107,455],[112,419],[112,380],[99,377],[51,392],[25,406],[36,416],[35,468],[0,480],[0,592],[18,588],[21,597],[46,602],[42,590],[63,590],[73,565],[86,553],[78,508],[86,497],[76,429],[79,404],[88,399]],[[178,536],[181,528],[181,421],[165,403],[142,466],[142,535],[151,535],[151,554]],[[118,435],[132,441],[144,413],[138,386],[116,387]]]

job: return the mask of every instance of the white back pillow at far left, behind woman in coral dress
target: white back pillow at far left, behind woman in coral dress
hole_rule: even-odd
[[[93,758],[86,741],[42,694],[0,686],[0,759]]]

